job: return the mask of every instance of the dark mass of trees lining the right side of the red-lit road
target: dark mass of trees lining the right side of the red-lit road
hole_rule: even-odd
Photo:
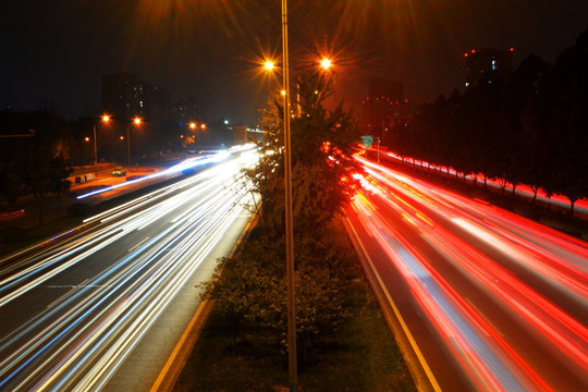
[[[588,196],[588,29],[554,65],[524,59],[507,81],[488,74],[463,96],[439,97],[394,130],[401,155],[482,173],[536,193]]]

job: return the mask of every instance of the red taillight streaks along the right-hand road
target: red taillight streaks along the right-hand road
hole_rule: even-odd
[[[516,336],[503,336],[467,298],[436,272],[431,260],[403,240],[400,229],[385,220],[370,199],[380,198],[415,226],[425,242],[444,259],[491,293],[504,311],[524,320],[522,327],[561,364],[588,385],[588,247],[586,243],[491,206],[409,179],[376,163],[366,163],[369,179],[353,203],[366,231],[377,238],[390,260],[403,272],[415,301],[444,335],[464,371],[480,390],[551,390],[528,363],[526,353],[512,346]],[[427,195],[427,196],[426,196]],[[429,215],[430,213],[430,215]],[[457,230],[456,230],[457,229]],[[480,240],[501,264],[452,233]],[[516,265],[540,277],[558,293],[585,309],[578,319],[562,310],[506,267]],[[413,282],[413,283],[412,283]],[[577,382],[577,381],[576,381]]]

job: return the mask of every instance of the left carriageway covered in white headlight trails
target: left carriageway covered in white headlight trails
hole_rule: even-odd
[[[0,260],[1,391],[149,390],[250,219],[243,154]],[[180,305],[179,305],[180,304]]]

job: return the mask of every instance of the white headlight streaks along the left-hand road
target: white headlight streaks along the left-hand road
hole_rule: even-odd
[[[151,221],[161,220],[167,218],[166,210],[170,213],[182,208],[167,230],[146,240],[124,259],[0,340],[0,352],[10,352],[0,363],[0,389],[25,390],[33,384],[37,390],[103,388],[166,305],[243,213],[237,207],[249,203],[242,199],[250,198],[250,193],[232,193],[222,186],[238,171],[237,164],[233,163],[232,169],[228,164],[220,164],[218,170],[210,169],[206,179],[199,176],[203,183],[196,187],[193,183],[184,185],[186,191],[172,196],[173,203],[164,201],[159,208],[144,208],[140,203],[137,205],[142,207],[137,208],[131,203],[126,208],[132,215],[124,215],[122,223],[108,221],[109,226],[102,229],[100,235],[109,233],[114,242],[137,233],[133,229],[148,228],[146,216]],[[220,172],[224,174],[219,175]],[[222,189],[220,193],[219,188]],[[99,219],[119,212],[110,211]],[[113,231],[115,235],[112,235]],[[88,247],[86,242],[95,246]],[[87,250],[79,254],[75,262],[83,261],[108,243],[102,237],[89,237],[79,245],[86,246]],[[65,259],[68,255],[61,257]],[[61,266],[61,271],[68,268],[68,262]],[[48,271],[37,278],[36,283],[52,275]],[[27,290],[34,287],[35,284]],[[53,315],[60,313],[56,319]]]

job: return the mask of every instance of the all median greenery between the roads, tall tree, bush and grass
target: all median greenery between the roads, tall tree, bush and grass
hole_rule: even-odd
[[[292,130],[296,353],[301,391],[414,390],[394,338],[339,216],[354,195],[357,121],[323,106],[332,79],[301,70]],[[258,226],[220,260],[204,296],[216,301],[177,391],[282,391],[289,384],[283,97],[264,111],[259,161],[242,187],[259,195]]]

